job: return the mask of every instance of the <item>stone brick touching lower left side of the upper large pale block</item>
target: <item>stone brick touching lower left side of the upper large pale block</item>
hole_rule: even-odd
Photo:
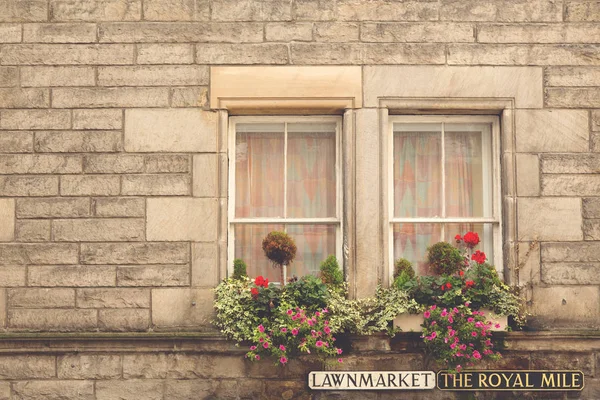
[[[119,131],[36,132],[35,151],[50,153],[116,152],[123,148]]]

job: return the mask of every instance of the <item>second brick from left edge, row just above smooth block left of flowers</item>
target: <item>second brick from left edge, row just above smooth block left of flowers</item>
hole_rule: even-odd
[[[33,265],[27,278],[29,286],[115,286],[115,269],[105,265]]]

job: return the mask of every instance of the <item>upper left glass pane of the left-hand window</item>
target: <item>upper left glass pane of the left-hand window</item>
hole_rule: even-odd
[[[236,217],[283,217],[283,152],[283,124],[236,125]]]

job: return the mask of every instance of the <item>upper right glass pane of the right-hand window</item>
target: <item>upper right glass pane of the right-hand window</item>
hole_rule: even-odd
[[[491,129],[485,124],[446,124],[446,216],[492,215]]]

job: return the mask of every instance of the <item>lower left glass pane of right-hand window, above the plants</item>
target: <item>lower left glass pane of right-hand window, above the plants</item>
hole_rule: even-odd
[[[413,263],[418,275],[429,275],[427,248],[442,240],[442,225],[393,224],[393,230],[394,260],[406,258]]]

